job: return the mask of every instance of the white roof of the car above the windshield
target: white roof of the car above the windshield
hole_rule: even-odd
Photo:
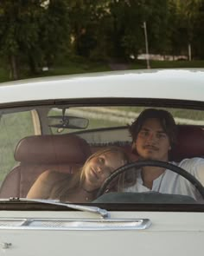
[[[201,69],[129,70],[6,82],[2,83],[0,88],[0,102],[65,99],[67,97],[70,99],[159,97],[203,101],[203,71]],[[64,93],[66,90],[69,92],[68,95]]]

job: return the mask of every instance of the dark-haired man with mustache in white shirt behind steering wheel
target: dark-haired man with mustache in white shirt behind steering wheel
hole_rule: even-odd
[[[145,109],[131,124],[132,150],[141,160],[169,161],[171,148],[176,144],[176,125],[173,116],[166,110]],[[204,160],[192,158],[180,163],[182,167],[204,184]],[[163,167],[142,167],[137,172],[137,181],[124,188],[126,192],[155,191],[163,194],[183,194],[200,200],[196,188],[179,174]]]

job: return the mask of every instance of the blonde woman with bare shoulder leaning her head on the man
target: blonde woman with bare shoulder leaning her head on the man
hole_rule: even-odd
[[[30,188],[27,198],[92,201],[105,179],[128,162],[128,156],[120,148],[99,150],[87,159],[76,174],[60,174],[49,170],[42,173]],[[112,190],[114,185],[112,183]]]

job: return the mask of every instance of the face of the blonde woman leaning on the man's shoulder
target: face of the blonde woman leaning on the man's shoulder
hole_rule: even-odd
[[[105,179],[124,163],[122,155],[118,152],[109,151],[92,157],[84,167],[86,186],[99,188]]]

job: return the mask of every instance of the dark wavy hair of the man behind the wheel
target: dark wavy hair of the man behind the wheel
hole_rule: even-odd
[[[132,141],[136,141],[137,135],[143,127],[144,121],[150,118],[156,118],[160,121],[164,132],[169,137],[170,145],[174,147],[177,142],[177,128],[175,120],[167,110],[163,109],[147,108],[140,113],[137,120],[133,121],[131,126],[129,126]]]

